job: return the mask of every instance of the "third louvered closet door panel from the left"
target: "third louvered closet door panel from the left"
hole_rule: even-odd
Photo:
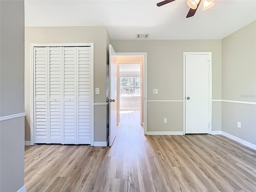
[[[78,144],[76,47],[63,47],[62,55],[64,71],[64,144]]]

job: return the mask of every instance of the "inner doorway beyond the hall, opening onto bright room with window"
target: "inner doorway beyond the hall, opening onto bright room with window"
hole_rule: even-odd
[[[144,56],[117,56],[117,123],[144,125]]]

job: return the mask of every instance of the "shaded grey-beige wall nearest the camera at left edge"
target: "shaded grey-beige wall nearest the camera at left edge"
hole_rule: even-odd
[[[0,116],[24,112],[24,0],[0,1]],[[24,185],[24,117],[0,121],[0,191]]]

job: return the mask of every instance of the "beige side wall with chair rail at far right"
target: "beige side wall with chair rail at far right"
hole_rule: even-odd
[[[222,39],[222,99],[256,102],[256,21]],[[256,144],[256,105],[222,102],[222,131]]]

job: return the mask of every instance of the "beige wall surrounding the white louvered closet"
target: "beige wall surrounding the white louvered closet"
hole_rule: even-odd
[[[94,103],[106,102],[107,42],[106,27],[26,27],[25,28],[25,140],[30,140],[30,44],[32,43],[94,43]],[[104,113],[94,109],[94,141],[106,141],[106,106]],[[104,127],[102,125],[105,124]]]

